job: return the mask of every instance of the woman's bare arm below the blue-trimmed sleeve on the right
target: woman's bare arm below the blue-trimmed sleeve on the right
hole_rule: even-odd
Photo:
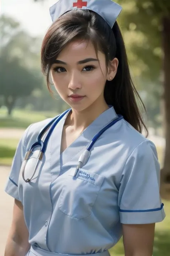
[[[152,256],[155,223],[123,224],[123,244],[125,256]]]

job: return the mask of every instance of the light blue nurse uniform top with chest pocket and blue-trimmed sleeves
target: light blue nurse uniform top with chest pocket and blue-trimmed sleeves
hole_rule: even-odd
[[[122,223],[156,223],[165,217],[156,148],[120,120],[95,142],[88,162],[74,178],[78,159],[91,139],[118,116],[110,107],[60,154],[66,116],[55,127],[30,183],[22,178],[24,155],[51,119],[27,128],[5,191],[23,204],[32,246],[29,256],[107,256],[122,236]],[[38,153],[36,149],[27,163],[25,179],[32,176]]]

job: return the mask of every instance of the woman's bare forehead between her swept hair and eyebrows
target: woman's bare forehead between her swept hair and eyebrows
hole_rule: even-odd
[[[98,58],[101,58],[103,53],[98,51]],[[97,58],[94,45],[91,41],[86,40],[75,40],[71,41],[69,44],[62,49],[57,57],[57,59],[75,59],[79,60],[85,58]]]

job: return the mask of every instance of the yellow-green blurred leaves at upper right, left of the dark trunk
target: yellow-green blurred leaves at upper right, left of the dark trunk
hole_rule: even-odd
[[[145,0],[117,2],[123,6],[118,21],[122,24],[127,49],[131,52],[130,62],[132,66],[137,64],[138,67],[138,63],[142,63],[140,75],[157,83],[160,79],[163,56],[161,13],[158,15],[158,6],[155,9],[152,1]]]

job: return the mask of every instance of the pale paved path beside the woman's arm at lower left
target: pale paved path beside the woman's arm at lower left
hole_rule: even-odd
[[[0,166],[0,256],[4,256],[14,203],[14,199],[4,192],[9,171],[10,167]]]

